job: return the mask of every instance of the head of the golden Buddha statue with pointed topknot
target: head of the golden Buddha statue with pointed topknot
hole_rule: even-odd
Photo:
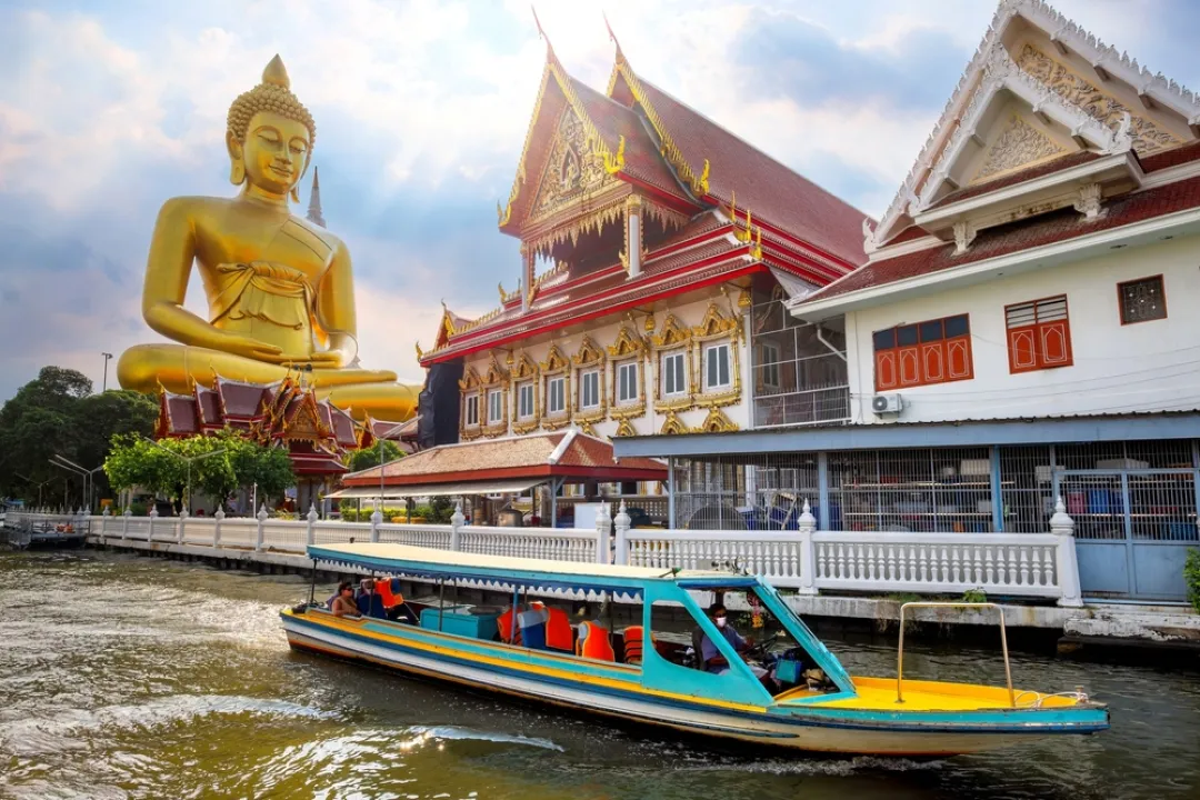
[[[263,83],[239,95],[229,107],[226,145],[234,186],[248,180],[271,194],[290,194],[299,201],[296,185],[308,167],[317,126],[290,86],[276,55],[263,70]]]

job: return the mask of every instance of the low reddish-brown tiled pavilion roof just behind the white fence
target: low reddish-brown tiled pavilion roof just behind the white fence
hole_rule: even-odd
[[[589,476],[607,480],[666,480],[666,465],[652,458],[613,461],[612,445],[593,437],[576,433],[557,463],[550,458],[563,433],[535,433],[527,437],[490,439],[458,445],[432,447],[384,464],[384,483],[404,486],[416,483],[490,480],[492,477]],[[354,473],[346,477],[347,486],[378,486],[379,468]]]

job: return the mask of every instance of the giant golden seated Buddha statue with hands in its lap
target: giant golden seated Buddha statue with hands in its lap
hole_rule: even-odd
[[[288,207],[289,197],[300,199],[296,185],[316,132],[276,55],[263,83],[229,108],[229,181],[241,193],[176,197],[158,212],[142,314],[179,344],[126,350],[116,368],[121,386],[187,392],[193,381],[209,385],[215,375],[268,384],[300,369],[320,397],[356,416],[412,416],[419,386],[356,366],[349,251]],[[184,308],[193,261],[209,301],[208,320]]]

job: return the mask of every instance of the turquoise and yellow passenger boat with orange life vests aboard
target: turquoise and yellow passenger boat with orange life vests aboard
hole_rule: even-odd
[[[902,655],[895,678],[851,676],[775,589],[755,576],[385,543],[311,546],[308,555],[314,567],[324,563],[433,581],[442,587],[443,600],[408,603],[412,616],[406,622],[335,616],[310,597],[308,603],[282,612],[292,648],[473,690],[690,734],[834,753],[941,757],[1109,727],[1108,709],[1080,688],[1014,690],[1007,646],[1008,685],[1002,687],[901,679]],[[512,604],[503,614],[498,607],[446,606],[444,588],[451,583],[511,591]],[[530,591],[545,603],[522,606]],[[556,595],[589,593],[635,603],[635,613],[640,603],[640,616],[620,633],[610,633],[613,626],[610,621],[605,627],[602,615],[581,624],[588,637],[601,637],[592,640],[593,646],[581,646],[570,627],[566,640],[560,625],[557,636],[539,630],[563,621],[565,612],[562,603],[556,607]],[[750,663],[737,646],[739,636],[718,630],[697,602],[698,593],[744,599],[756,615],[751,625],[770,620],[761,628],[775,631],[763,637],[769,648],[757,648],[760,664]],[[692,628],[690,643],[679,633],[680,619],[684,630]],[[697,652],[714,649],[719,655],[707,661]],[[714,672],[714,662],[724,666]]]

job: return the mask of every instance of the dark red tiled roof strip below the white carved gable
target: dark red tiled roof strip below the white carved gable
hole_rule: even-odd
[[[872,261],[845,278],[830,283],[805,302],[815,302],[851,291],[887,285],[906,278],[931,275],[964,264],[1042,247],[1100,230],[1110,230],[1196,206],[1200,206],[1200,178],[1108,200],[1104,204],[1104,215],[1096,219],[1086,219],[1074,209],[1062,209],[1054,213],[984,230],[960,255],[955,255],[954,245],[948,243],[943,247]],[[799,307],[803,308],[804,303],[800,303]]]

